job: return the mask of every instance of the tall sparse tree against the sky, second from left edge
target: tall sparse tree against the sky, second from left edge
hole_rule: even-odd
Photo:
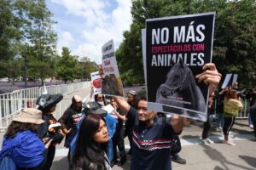
[[[23,56],[28,59],[28,75],[35,79],[53,76],[49,66],[51,57],[55,54],[56,34],[52,25],[52,14],[46,7],[44,0],[16,0],[15,14],[22,20],[24,35]]]

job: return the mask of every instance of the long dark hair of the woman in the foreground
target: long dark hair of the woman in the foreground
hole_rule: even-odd
[[[81,123],[75,152],[72,160],[73,169],[90,169],[91,163],[96,169],[105,169],[104,151],[107,150],[108,142],[98,144],[93,140],[94,134],[100,127],[102,116],[95,114],[86,116]]]

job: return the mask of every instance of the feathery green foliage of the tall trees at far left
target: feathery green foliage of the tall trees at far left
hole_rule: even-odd
[[[5,70],[0,65],[0,77],[23,76],[24,62],[15,59],[22,56],[27,59],[28,77],[40,78],[43,84],[46,77],[54,74],[49,65],[56,44],[52,31],[55,21],[44,0],[3,0],[0,9],[0,59],[9,68]],[[19,67],[16,62],[20,62]],[[11,68],[19,71],[14,74]]]

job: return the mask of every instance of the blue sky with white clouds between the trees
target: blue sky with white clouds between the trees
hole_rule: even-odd
[[[102,62],[102,45],[113,39],[115,48],[131,25],[131,0],[46,0],[54,14],[57,50]]]

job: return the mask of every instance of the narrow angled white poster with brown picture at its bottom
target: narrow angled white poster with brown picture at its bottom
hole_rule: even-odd
[[[102,46],[102,94],[123,96],[123,83],[114,55],[113,40]]]

